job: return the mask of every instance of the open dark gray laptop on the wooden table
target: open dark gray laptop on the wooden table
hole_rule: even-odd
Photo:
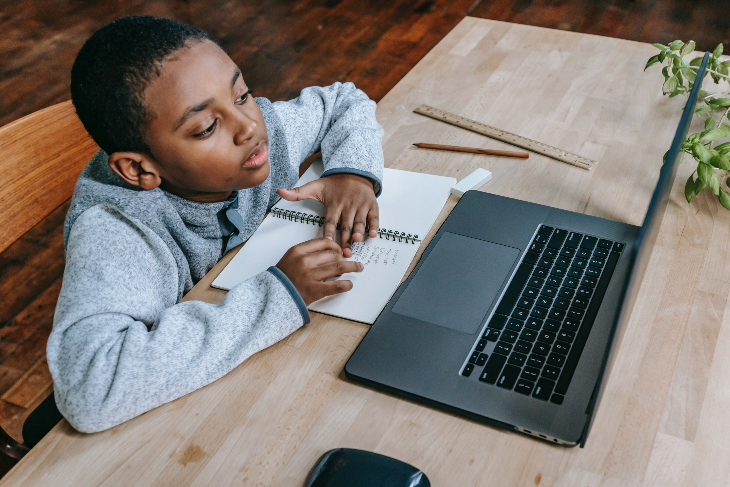
[[[688,98],[641,227],[467,191],[345,375],[475,421],[583,447],[701,84]]]

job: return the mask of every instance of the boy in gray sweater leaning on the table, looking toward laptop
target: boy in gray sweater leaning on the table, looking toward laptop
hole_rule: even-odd
[[[308,323],[307,304],[352,287],[325,280],[361,272],[344,258],[366,223],[375,237],[383,175],[375,104],[352,83],[254,100],[204,31],[127,17],[88,39],[71,90],[101,147],[66,217],[47,345],[55,401],[74,428],[110,428],[222,377]],[[289,190],[320,147],[323,177]],[[323,202],[324,237],[218,306],[181,303],[279,196]]]

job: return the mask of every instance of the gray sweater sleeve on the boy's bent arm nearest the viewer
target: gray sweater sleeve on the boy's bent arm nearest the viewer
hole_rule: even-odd
[[[114,207],[86,210],[69,234],[47,345],[58,410],[80,432],[99,432],[291,334],[309,313],[277,270],[237,285],[218,305],[176,303],[177,266],[160,237]]]

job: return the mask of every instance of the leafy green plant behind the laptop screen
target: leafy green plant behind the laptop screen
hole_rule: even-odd
[[[688,97],[696,83],[697,69],[702,64],[702,58],[694,58],[689,62],[684,59],[685,55],[694,51],[694,41],[677,40],[668,46],[663,44],[653,44],[653,46],[660,52],[649,58],[644,70],[646,71],[649,66],[654,64],[664,64],[666,61],[666,66],[661,70],[661,73],[664,74],[662,92],[669,95],[669,98],[677,95]],[[715,47],[707,61],[705,77],[709,74],[716,84],[721,81],[730,81],[728,74],[730,61],[720,61],[722,53],[723,45],[721,44]],[[718,93],[700,91],[694,112],[700,118],[704,118],[704,131],[689,135],[683,142],[680,164],[684,160],[685,153],[690,154],[697,161],[696,169],[685,184],[685,198],[691,204],[692,196],[709,186],[712,192],[718,196],[723,207],[730,210],[730,193],[726,191],[727,178],[730,175],[730,142],[712,147],[712,144],[718,139],[730,136],[730,125],[724,121],[726,118],[730,120],[730,91]],[[666,162],[668,154],[669,151],[664,154],[664,162]],[[721,179],[718,178],[718,170],[721,173]],[[694,179],[695,174],[697,175],[696,180]]]

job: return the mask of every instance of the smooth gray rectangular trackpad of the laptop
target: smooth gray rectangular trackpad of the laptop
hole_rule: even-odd
[[[444,232],[393,312],[473,334],[520,250]]]

